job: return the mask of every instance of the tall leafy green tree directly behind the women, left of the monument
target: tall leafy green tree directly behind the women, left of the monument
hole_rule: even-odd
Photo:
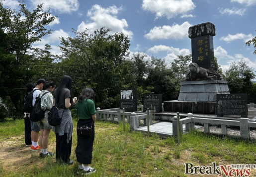
[[[61,63],[74,80],[74,91],[79,94],[91,87],[96,94],[96,104],[109,108],[124,83],[128,73],[124,59],[128,56],[130,41],[123,33],[110,35],[102,27],[88,34],[88,30],[73,30],[74,38],[61,38]]]

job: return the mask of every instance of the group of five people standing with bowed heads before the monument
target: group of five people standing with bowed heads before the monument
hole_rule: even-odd
[[[40,157],[53,156],[54,153],[48,151],[48,139],[51,129],[56,135],[56,161],[67,165],[72,165],[70,159],[72,147],[73,121],[69,108],[76,106],[78,113],[78,126],[87,125],[91,127],[91,136],[78,136],[76,147],[76,157],[81,174],[90,174],[96,170],[89,167],[92,159],[92,147],[94,141],[94,123],[96,120],[96,111],[94,105],[94,91],[91,88],[85,88],[78,100],[72,96],[72,79],[68,75],[61,78],[58,88],[54,91],[56,85],[54,82],[47,82],[39,79],[36,86],[27,85],[27,93],[33,91],[32,106],[36,98],[41,98],[41,109],[45,111],[44,118],[37,122],[30,121],[29,113],[24,113],[25,122],[25,144],[30,146],[32,151],[41,151]],[[54,91],[54,95],[52,92]],[[44,93],[49,93],[45,94]],[[26,97],[25,96],[25,97]],[[61,124],[51,126],[48,123],[48,113],[53,106],[58,109],[58,115],[62,118]],[[40,131],[40,136],[39,136]]]

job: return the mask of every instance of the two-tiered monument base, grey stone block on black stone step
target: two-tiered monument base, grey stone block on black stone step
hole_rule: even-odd
[[[217,114],[216,94],[230,94],[228,81],[180,82],[178,100],[165,101],[165,112]]]

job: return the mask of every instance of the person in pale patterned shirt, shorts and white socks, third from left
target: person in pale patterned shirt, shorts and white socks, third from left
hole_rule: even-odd
[[[37,121],[37,125],[40,127],[39,146],[41,147],[40,157],[53,156],[53,153],[48,151],[48,139],[52,126],[48,123],[48,113],[53,107],[53,95],[52,92],[55,88],[54,82],[45,82],[44,90],[40,93],[41,97],[41,110],[44,111],[44,118]],[[47,94],[46,94],[47,93]]]

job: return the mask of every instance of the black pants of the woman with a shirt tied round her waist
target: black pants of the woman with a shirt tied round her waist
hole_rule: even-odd
[[[71,146],[72,146],[72,136],[67,143],[67,133],[64,133],[64,135],[60,136],[58,133],[56,133],[56,160],[59,163],[65,163],[68,164],[70,161],[70,155],[71,155]]]

